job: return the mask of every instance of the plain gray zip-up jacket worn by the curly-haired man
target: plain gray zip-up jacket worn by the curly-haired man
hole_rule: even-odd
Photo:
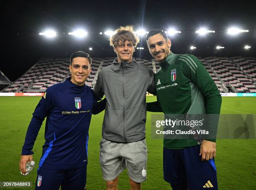
[[[117,62],[99,72],[93,88],[107,103],[102,137],[114,142],[136,142],[146,137],[146,91],[155,94],[154,72],[136,62]]]

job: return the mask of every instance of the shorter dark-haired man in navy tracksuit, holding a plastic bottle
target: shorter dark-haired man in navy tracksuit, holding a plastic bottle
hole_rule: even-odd
[[[44,118],[45,144],[39,162],[36,189],[83,190],[86,185],[88,131],[92,114],[105,109],[85,85],[92,58],[82,51],[70,58],[71,77],[49,87],[39,101],[28,126],[20,158],[20,171],[33,160],[33,145]]]

